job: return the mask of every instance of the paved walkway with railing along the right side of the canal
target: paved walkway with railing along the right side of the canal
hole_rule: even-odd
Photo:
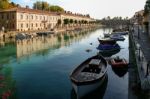
[[[143,90],[150,89],[150,38],[148,33],[139,30],[137,26],[130,33],[134,45],[139,83]]]

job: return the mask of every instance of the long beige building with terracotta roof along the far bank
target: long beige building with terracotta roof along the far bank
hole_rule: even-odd
[[[0,11],[0,30],[31,31],[53,29],[58,20],[63,25],[64,19],[78,21],[94,21],[87,15],[73,14],[71,12],[49,12],[29,8],[11,8]]]

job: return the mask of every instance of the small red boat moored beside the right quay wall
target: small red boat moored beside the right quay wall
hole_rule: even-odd
[[[124,58],[120,59],[119,57],[111,59],[110,64],[112,65],[112,67],[118,68],[128,66],[127,61]]]

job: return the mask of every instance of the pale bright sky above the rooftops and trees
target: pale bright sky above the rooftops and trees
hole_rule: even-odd
[[[21,6],[32,5],[36,1],[47,1],[59,5],[67,11],[90,14],[92,18],[101,19],[107,16],[132,17],[135,12],[144,9],[146,0],[11,0]]]

